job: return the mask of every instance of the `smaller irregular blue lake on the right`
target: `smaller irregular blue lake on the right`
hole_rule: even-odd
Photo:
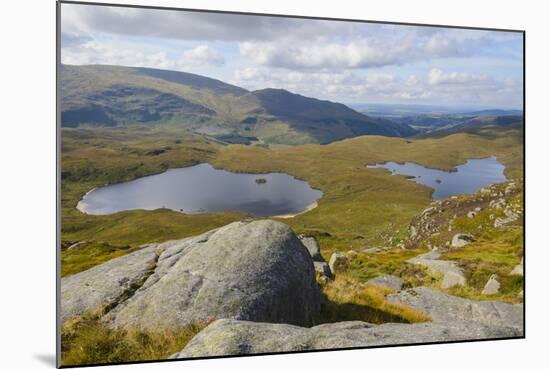
[[[412,181],[433,188],[433,199],[473,193],[485,186],[506,181],[504,165],[494,156],[470,159],[465,164],[457,165],[453,172],[396,162],[368,165],[367,168],[385,168],[392,174],[409,176]]]

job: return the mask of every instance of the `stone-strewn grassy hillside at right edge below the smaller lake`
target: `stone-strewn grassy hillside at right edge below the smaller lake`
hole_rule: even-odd
[[[447,243],[456,233],[466,233],[475,240],[460,248],[449,248],[442,253],[442,260],[454,261],[463,269],[467,286],[454,287],[451,294],[471,299],[490,299],[518,303],[518,293],[523,290],[523,277],[511,276],[510,272],[523,256],[523,216],[513,222],[495,227],[495,220],[505,218],[505,209],[514,209],[523,214],[523,185],[515,181],[513,193],[505,194],[507,183],[492,186],[491,191],[458,196],[439,203],[439,210],[430,215],[432,224],[441,224],[434,236],[422,237],[418,246],[432,245],[447,248]],[[503,196],[501,196],[503,195]],[[500,204],[498,206],[495,206]],[[493,204],[493,205],[491,205]],[[475,216],[468,216],[472,209],[479,208]],[[458,216],[457,216],[458,215]],[[417,228],[421,225],[416,224]],[[449,228],[448,228],[449,227]],[[410,267],[410,266],[409,266]],[[420,268],[416,268],[421,270]],[[501,284],[497,294],[482,295],[489,277],[496,274]],[[421,284],[438,288],[442,275],[429,275]],[[411,281],[415,284],[414,281]]]

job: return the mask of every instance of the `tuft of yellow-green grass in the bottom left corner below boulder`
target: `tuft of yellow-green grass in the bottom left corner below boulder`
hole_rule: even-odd
[[[61,364],[86,365],[167,359],[185,347],[208,323],[176,331],[139,332],[109,328],[86,316],[63,325]]]

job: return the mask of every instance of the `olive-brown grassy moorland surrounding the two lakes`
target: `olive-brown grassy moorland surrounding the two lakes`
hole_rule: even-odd
[[[483,132],[482,132],[483,133]],[[318,238],[322,253],[395,246],[406,237],[411,218],[430,203],[430,190],[366,165],[386,160],[413,161],[451,169],[468,158],[495,155],[506,165],[506,175],[522,176],[521,131],[493,129],[493,133],[454,134],[439,139],[400,139],[364,136],[330,145],[267,149],[223,146],[200,135],[170,127],[63,129],[62,240],[91,241],[100,247],[64,250],[64,275],[84,270],[150,242],[184,238],[242,219],[236,213],[186,215],[166,209],[125,211],[92,216],[75,207],[90,189],[168,168],[210,162],[236,172],[285,172],[323,191],[319,206],[295,218],[279,219],[297,233]],[[163,150],[151,155],[155,150]],[[254,158],[254,160],[250,160]],[[129,247],[129,249],[116,249]],[[116,250],[113,251],[112,248]],[[378,256],[377,256],[378,257]],[[381,258],[382,256],[380,256]],[[388,260],[404,256],[388,254]],[[381,272],[401,273],[398,262],[370,266],[361,258],[351,275],[364,280]],[[393,272],[392,272],[393,271]],[[403,272],[404,273],[404,272]]]

